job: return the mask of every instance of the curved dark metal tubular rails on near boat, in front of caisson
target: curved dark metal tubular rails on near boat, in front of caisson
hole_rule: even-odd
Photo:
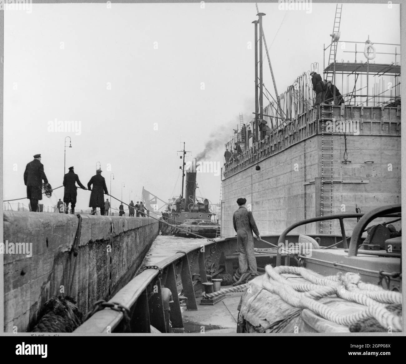
[[[313,217],[311,219],[305,219],[298,221],[292,225],[290,225],[285,231],[279,236],[278,239],[278,247],[279,246],[285,246],[285,240],[287,234],[292,231],[294,228],[297,228],[298,226],[301,225],[306,225],[309,223],[314,223],[318,221],[324,221],[324,220],[334,220],[338,219],[340,222],[340,229],[341,229],[341,236],[342,236],[342,243],[344,246],[344,249],[348,249],[348,256],[356,256],[357,251],[358,251],[358,245],[361,244],[361,235],[365,231],[365,228],[367,225],[377,217],[399,217],[401,212],[401,205],[396,204],[396,205],[388,205],[388,206],[382,206],[379,208],[376,208],[374,210],[371,210],[367,212],[366,214],[361,214],[361,213],[355,213],[355,214],[336,214],[336,215],[326,215],[326,216],[318,216],[318,217]],[[358,223],[356,224],[351,240],[350,240],[350,247],[348,247],[347,243],[347,237],[346,237],[346,231],[344,228],[344,219],[354,219],[354,218],[359,218]],[[282,254],[281,251],[278,249],[277,255],[276,255],[276,265],[279,266],[281,265],[282,261]]]

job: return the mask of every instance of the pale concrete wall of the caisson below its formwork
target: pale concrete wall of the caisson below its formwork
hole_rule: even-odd
[[[259,161],[259,171],[255,163],[226,176],[222,180],[222,236],[235,236],[232,218],[238,197],[245,197],[247,206],[251,205],[263,235],[281,234],[292,223],[315,216],[355,213],[356,207],[367,212],[400,203],[400,124],[386,114],[382,120],[364,120],[360,134],[348,133],[346,143],[343,133],[316,134]],[[351,161],[347,164],[343,163],[346,144]],[[331,161],[332,168],[328,168]],[[332,179],[333,185],[322,184],[322,175],[325,180]],[[350,236],[356,220],[345,222]],[[340,229],[337,220],[331,225],[309,224],[293,232],[340,234]]]

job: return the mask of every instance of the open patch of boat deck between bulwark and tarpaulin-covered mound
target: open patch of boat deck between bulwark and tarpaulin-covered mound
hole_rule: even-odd
[[[221,286],[221,288],[229,287],[232,286]],[[186,310],[186,307],[182,307],[184,332],[187,334],[235,334],[237,332],[237,308],[241,295],[242,292],[226,293],[225,298],[214,306],[200,305],[201,298],[199,298],[197,311]]]

